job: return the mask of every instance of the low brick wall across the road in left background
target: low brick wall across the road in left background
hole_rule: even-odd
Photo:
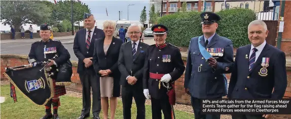
[[[75,31],[74,34],[77,31]],[[53,35],[54,35],[54,37],[70,36],[70,35],[72,35],[72,32],[56,32],[56,33],[53,33]],[[29,33],[25,33],[24,36],[26,39],[30,38]],[[40,38],[40,33],[33,33],[32,36],[33,36],[33,38]],[[2,33],[1,34],[1,40],[7,40],[7,39],[12,39],[12,33]],[[20,32],[15,33],[15,39],[21,39]]]

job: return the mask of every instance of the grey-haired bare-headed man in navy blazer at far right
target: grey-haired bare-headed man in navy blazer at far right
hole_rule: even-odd
[[[266,43],[268,36],[264,21],[254,20],[248,25],[249,45],[236,51],[228,89],[229,98],[281,99],[287,87],[285,53]],[[273,91],[274,90],[274,91]],[[233,118],[269,118],[269,114],[232,115]]]

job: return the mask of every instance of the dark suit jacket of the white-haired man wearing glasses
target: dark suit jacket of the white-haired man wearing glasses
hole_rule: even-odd
[[[135,85],[142,87],[142,67],[144,65],[145,51],[148,46],[148,44],[139,41],[135,54],[136,58],[133,61],[131,41],[121,45],[118,59],[118,69],[121,73],[120,85],[131,86],[127,83],[126,77],[134,76],[137,78]]]

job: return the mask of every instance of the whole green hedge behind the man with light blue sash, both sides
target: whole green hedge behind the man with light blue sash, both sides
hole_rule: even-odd
[[[163,16],[159,24],[168,27],[167,42],[176,46],[189,46],[190,39],[203,35],[201,12],[175,13]],[[216,13],[222,19],[216,33],[232,40],[234,47],[249,44],[248,24],[256,20],[256,13],[249,9],[230,9]]]

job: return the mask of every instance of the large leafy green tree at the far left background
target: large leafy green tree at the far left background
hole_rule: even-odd
[[[2,1],[1,22],[14,25],[16,30],[22,24],[41,25],[49,19],[51,9],[35,1]]]

